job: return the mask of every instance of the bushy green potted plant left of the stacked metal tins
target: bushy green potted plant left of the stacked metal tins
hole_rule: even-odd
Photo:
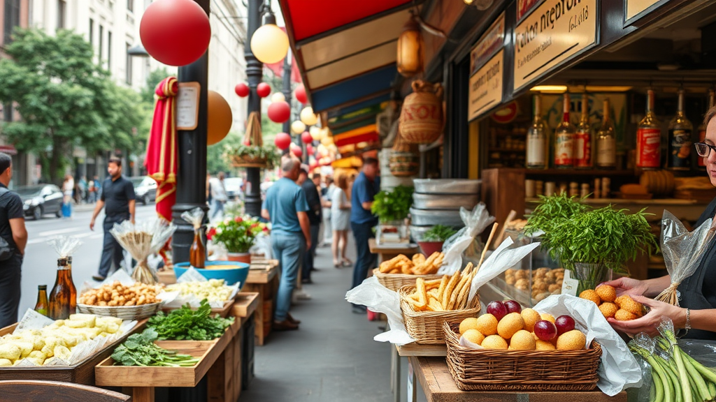
[[[393,190],[378,192],[373,199],[371,211],[378,216],[376,240],[383,242],[407,242],[405,218],[412,205],[412,187],[397,186]]]

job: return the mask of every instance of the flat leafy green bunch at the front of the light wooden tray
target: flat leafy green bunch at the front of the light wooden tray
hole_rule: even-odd
[[[122,366],[191,367],[199,362],[193,356],[160,348],[154,343],[157,339],[158,334],[154,328],[132,334],[122,345],[117,346],[112,353],[112,359]]]

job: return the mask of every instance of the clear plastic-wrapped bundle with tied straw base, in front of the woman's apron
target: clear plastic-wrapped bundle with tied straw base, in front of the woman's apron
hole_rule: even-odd
[[[712,227],[712,219],[709,218],[701,226],[689,232],[677,217],[664,210],[662,254],[671,277],[671,285],[659,293],[657,300],[679,305],[677,288],[684,279],[689,278],[699,268],[699,263],[705,255],[715,231],[716,228]]]

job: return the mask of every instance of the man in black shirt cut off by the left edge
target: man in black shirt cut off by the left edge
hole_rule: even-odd
[[[19,195],[7,189],[12,179],[10,155],[0,152],[0,237],[13,251],[0,261],[0,328],[17,322],[20,305],[20,278],[22,256],[27,244],[25,214]]]

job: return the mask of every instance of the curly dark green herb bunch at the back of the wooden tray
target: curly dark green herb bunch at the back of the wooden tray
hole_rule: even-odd
[[[187,304],[169,314],[160,311],[149,319],[149,328],[157,331],[160,340],[212,340],[221,337],[231,324],[233,317],[211,317],[206,299],[201,300],[196,310]]]

